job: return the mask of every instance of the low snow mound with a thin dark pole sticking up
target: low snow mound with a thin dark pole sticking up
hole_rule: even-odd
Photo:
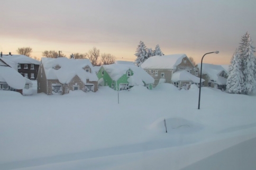
[[[200,123],[189,121],[185,118],[172,117],[166,119],[166,126],[168,133],[195,133],[204,128]],[[162,132],[166,131],[164,126],[164,118],[159,118],[150,125],[151,129],[159,129]]]

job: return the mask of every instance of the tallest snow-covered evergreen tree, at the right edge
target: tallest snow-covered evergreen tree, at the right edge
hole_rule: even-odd
[[[243,91],[245,94],[252,93],[255,89],[255,57],[253,55],[254,48],[252,46],[252,40],[248,32],[242,36],[239,46],[239,56],[241,58],[241,71],[243,73]]]

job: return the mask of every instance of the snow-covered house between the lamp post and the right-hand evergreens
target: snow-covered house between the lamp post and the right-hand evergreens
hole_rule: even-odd
[[[198,64],[200,71],[201,64]],[[202,64],[202,78],[205,79],[204,86],[226,89],[227,71],[221,65]]]

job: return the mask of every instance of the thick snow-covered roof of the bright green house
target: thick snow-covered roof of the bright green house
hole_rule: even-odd
[[[127,65],[127,64],[111,64],[111,65],[103,65],[103,68],[108,73],[108,75],[112,78],[113,81],[117,81],[120,77],[122,77],[126,72],[131,69],[133,75],[130,76],[127,81],[131,86],[134,85],[144,85],[154,83],[154,78],[151,77],[147,72],[144,71],[141,67],[137,67],[135,65]]]

